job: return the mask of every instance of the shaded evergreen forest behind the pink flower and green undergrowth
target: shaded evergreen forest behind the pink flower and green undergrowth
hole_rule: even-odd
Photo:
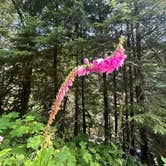
[[[53,141],[86,137],[96,144],[114,143],[142,164],[162,163],[165,0],[0,0],[0,8],[1,119],[18,112],[46,124],[71,69],[84,58],[111,54],[124,36],[123,67],[75,80],[56,116]]]

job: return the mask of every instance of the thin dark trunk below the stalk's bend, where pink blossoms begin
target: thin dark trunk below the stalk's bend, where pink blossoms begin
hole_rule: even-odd
[[[82,77],[81,80],[81,91],[82,91],[82,128],[83,128],[83,133],[86,134],[86,116],[85,116],[85,94],[84,94],[84,86],[85,84],[85,78]]]

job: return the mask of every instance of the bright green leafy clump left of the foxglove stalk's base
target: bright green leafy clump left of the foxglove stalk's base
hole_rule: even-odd
[[[21,165],[26,158],[33,156],[43,140],[43,126],[32,115],[25,118],[19,118],[16,112],[2,115],[0,135],[4,140],[0,144],[0,164]]]

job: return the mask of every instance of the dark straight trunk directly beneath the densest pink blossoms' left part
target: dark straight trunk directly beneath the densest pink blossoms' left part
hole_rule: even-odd
[[[109,126],[108,126],[108,118],[109,118],[109,111],[108,111],[108,94],[107,94],[107,76],[103,74],[103,96],[104,96],[104,137],[105,143],[108,143],[109,139]]]

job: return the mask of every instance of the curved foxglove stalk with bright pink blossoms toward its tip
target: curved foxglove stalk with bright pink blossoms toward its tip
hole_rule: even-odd
[[[100,58],[93,60],[92,63],[89,63],[89,60],[87,58],[84,59],[84,65],[78,66],[74,68],[70,74],[66,77],[65,81],[61,85],[55,101],[51,107],[51,113],[49,116],[49,120],[46,126],[46,129],[44,131],[44,137],[49,136],[49,128],[50,125],[53,123],[56,114],[58,113],[60,109],[60,105],[62,103],[62,100],[65,96],[65,94],[69,91],[69,88],[73,85],[74,79],[76,76],[85,76],[91,73],[112,73],[114,70],[117,70],[119,67],[121,67],[124,63],[124,60],[126,58],[126,55],[124,54],[124,49],[121,44],[119,44],[118,49],[113,53],[113,56],[106,58]]]

